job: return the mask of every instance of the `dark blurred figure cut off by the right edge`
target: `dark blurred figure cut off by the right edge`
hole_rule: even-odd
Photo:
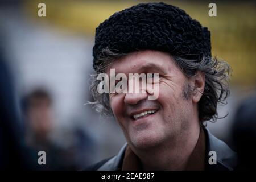
[[[256,169],[256,95],[248,97],[238,107],[232,135],[240,163],[237,169]]]

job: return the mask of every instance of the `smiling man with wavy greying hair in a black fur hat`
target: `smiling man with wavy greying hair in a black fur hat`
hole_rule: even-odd
[[[230,67],[211,56],[210,32],[179,7],[142,3],[101,23],[93,47],[92,104],[97,111],[114,115],[127,144],[90,169],[236,167],[236,154],[205,128],[205,121],[216,121],[217,103],[229,94]],[[147,84],[158,89],[139,85],[139,93],[99,93],[97,75],[110,76],[113,69],[127,77],[152,73],[158,79]],[[115,84],[123,79],[115,78]],[[128,79],[128,88],[130,83]],[[155,99],[148,99],[156,92]]]

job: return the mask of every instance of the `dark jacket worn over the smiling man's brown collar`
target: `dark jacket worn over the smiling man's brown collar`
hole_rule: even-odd
[[[210,131],[204,128],[205,133],[205,170],[207,171],[232,171],[237,166],[237,155],[223,141],[214,137]],[[121,170],[123,156],[125,155],[127,143],[121,148],[117,155],[112,158],[102,160],[87,168],[87,170],[117,171]],[[209,164],[209,151],[216,151],[217,164]]]

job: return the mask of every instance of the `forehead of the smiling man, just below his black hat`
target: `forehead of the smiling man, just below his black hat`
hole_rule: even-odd
[[[115,69],[115,73],[139,73],[143,71],[169,72],[175,64],[170,54],[161,51],[137,51],[115,60],[106,70]]]

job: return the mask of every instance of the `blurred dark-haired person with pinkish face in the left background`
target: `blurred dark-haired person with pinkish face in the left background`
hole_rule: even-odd
[[[76,169],[71,148],[62,148],[52,138],[52,97],[44,89],[36,89],[23,98],[26,142],[36,152],[46,152],[46,165],[40,169]],[[64,131],[63,131],[64,133]]]

